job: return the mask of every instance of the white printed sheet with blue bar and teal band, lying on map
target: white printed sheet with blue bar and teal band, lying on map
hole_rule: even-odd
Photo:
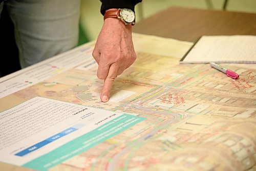
[[[0,161],[46,170],[144,119],[35,97],[0,113]]]

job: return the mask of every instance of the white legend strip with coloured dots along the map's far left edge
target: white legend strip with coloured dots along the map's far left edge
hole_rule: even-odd
[[[90,47],[81,46],[37,63],[36,65],[38,67],[33,65],[25,68],[27,71],[20,70],[14,79],[5,80],[5,78],[1,78],[0,98],[54,77],[77,66],[77,64],[82,63],[86,66],[95,63],[92,57],[92,50],[93,49]],[[84,70],[86,69],[87,68],[84,68]]]

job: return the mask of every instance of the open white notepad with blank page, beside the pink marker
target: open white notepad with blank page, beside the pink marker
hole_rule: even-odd
[[[180,60],[184,63],[256,63],[255,35],[204,35]]]

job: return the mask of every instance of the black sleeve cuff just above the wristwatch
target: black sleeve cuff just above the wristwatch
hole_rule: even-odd
[[[100,13],[105,14],[105,11],[110,8],[128,8],[134,11],[136,4],[142,2],[142,0],[100,0],[101,8]]]

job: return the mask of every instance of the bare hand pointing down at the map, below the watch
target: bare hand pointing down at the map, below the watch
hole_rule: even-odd
[[[115,78],[136,60],[132,26],[124,25],[117,18],[106,18],[93,50],[93,58],[99,65],[97,77],[104,80],[100,99],[108,102]]]

